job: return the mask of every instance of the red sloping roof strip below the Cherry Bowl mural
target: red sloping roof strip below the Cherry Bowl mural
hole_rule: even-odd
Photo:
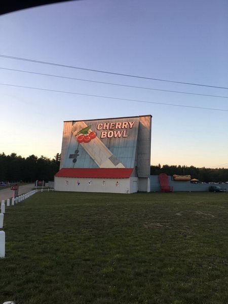
[[[129,178],[133,168],[62,168],[57,177]]]

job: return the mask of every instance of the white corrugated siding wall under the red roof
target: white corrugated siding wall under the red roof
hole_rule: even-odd
[[[102,185],[102,181],[105,185]],[[67,182],[68,181],[68,182]],[[119,185],[116,186],[117,181]],[[78,185],[78,182],[80,185]],[[89,183],[90,182],[90,183]],[[55,177],[55,191],[132,193],[133,178],[74,178]]]

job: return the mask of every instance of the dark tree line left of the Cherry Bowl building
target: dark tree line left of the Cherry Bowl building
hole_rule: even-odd
[[[33,182],[35,180],[54,180],[54,175],[59,171],[59,153],[53,159],[45,156],[38,158],[30,155],[27,158],[16,153],[0,154],[0,182]]]

